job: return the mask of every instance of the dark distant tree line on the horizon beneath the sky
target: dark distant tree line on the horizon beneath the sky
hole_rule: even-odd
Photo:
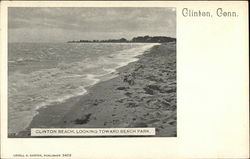
[[[176,41],[176,38],[166,36],[138,36],[127,40],[121,39],[109,39],[109,40],[79,40],[79,41],[68,41],[68,43],[167,43]]]

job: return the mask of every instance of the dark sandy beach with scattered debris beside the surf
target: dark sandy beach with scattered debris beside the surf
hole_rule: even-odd
[[[175,137],[176,44],[154,46],[117,70],[113,79],[88,93],[40,108],[30,128],[156,128],[157,137]]]

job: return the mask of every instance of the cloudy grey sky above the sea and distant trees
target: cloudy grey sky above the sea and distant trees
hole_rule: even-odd
[[[9,42],[128,40],[136,36],[176,37],[174,8],[52,8],[8,10]]]

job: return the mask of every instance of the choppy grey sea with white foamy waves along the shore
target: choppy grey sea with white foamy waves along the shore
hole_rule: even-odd
[[[8,133],[28,127],[37,110],[84,95],[116,76],[155,43],[9,43]]]

